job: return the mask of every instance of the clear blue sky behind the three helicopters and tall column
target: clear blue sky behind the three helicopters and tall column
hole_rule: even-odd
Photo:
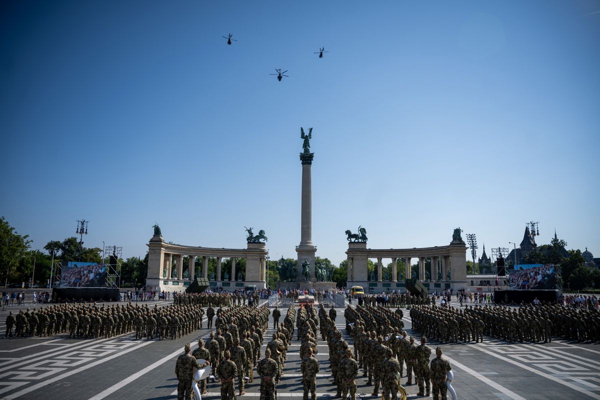
[[[600,256],[600,1],[5,1],[0,213],[34,248],[74,235],[143,255],[271,258],[300,240],[299,128],[313,127],[313,242],[345,258],[446,245]],[[238,42],[227,46],[221,35]],[[313,52],[325,46],[323,59]],[[289,70],[278,82],[275,68]],[[512,245],[510,245],[512,247]]]

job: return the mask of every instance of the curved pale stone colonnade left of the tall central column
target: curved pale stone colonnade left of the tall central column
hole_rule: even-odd
[[[189,257],[187,278],[183,275],[184,257]],[[172,278],[172,260],[175,257],[176,276]],[[257,289],[266,287],[265,243],[248,243],[245,249],[211,248],[201,246],[184,246],[167,243],[163,236],[154,236],[148,243],[148,276],[146,285],[160,291],[183,291],[196,278],[196,257],[202,260],[200,276],[208,279],[208,258],[217,258],[217,273],[211,285],[224,290],[243,289],[247,285],[256,285]],[[232,273],[229,280],[221,279],[221,261],[232,259]],[[236,260],[245,258],[246,273],[239,281],[236,275]]]

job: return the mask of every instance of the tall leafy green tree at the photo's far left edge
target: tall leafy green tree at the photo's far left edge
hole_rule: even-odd
[[[22,257],[28,254],[31,240],[29,235],[20,235],[8,224],[4,216],[0,218],[0,268],[4,274],[4,281],[16,281],[21,277],[17,265]]]

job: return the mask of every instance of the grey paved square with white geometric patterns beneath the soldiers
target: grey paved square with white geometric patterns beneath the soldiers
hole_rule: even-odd
[[[166,305],[166,302],[160,302]],[[152,305],[150,303],[149,305]],[[0,312],[0,328],[9,310]],[[346,334],[343,309],[337,310],[336,324]],[[272,321],[272,320],[271,320]],[[404,312],[409,335],[410,318]],[[265,334],[272,334],[272,323]],[[206,326],[206,325],[205,325]],[[181,339],[136,341],[126,334],[111,339],[53,338],[0,339],[1,399],[127,399],[167,400],[176,398],[175,359],[184,344],[196,347],[199,338],[208,338],[201,329]],[[296,335],[294,335],[294,338]],[[263,345],[262,354],[266,348]],[[437,343],[429,343],[435,348]],[[293,340],[287,353],[285,375],[278,385],[278,397],[301,398],[299,342]],[[454,371],[453,386],[459,399],[600,399],[600,345],[575,344],[555,339],[548,344],[505,344],[484,341],[479,344],[445,344],[444,356]],[[432,354],[433,356],[433,354]],[[326,342],[319,341],[320,373],[318,398],[334,398]],[[359,372],[357,395],[374,398],[372,386]],[[403,378],[406,383],[406,378]],[[243,398],[258,398],[259,380],[247,384]],[[217,383],[209,384],[203,399],[220,398]],[[409,399],[416,396],[415,384],[406,386]]]

